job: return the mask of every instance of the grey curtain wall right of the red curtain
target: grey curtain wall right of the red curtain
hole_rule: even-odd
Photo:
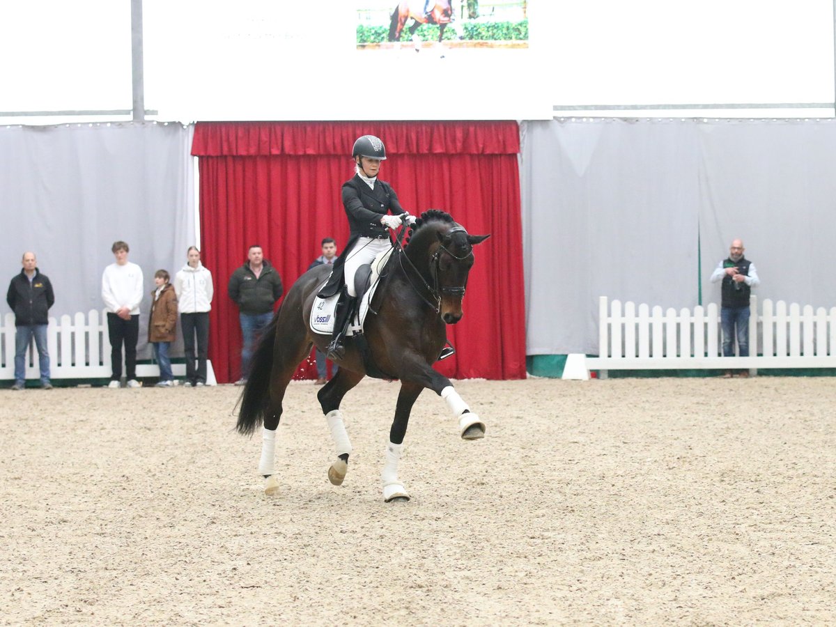
[[[521,127],[527,353],[598,353],[598,297],[719,302],[741,237],[760,298],[836,305],[834,120],[614,120]]]

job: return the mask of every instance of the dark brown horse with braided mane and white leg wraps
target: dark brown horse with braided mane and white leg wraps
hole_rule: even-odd
[[[400,237],[405,229],[402,227]],[[422,390],[429,388],[445,400],[458,420],[463,440],[478,440],[484,437],[486,429],[450,380],[434,370],[432,364],[446,345],[446,324],[458,323],[463,315],[461,302],[474,262],[473,247],[491,236],[470,235],[450,214],[437,209],[422,213],[409,234],[403,247],[395,240],[390,259],[380,273],[380,284],[362,334],[346,339],[344,357],[335,360],[339,365],[337,374],[317,394],[337,456],[328,477],[339,486],[348,472],[352,450],[339,411],[344,395],[366,375],[400,380],[381,473],[385,502],[410,498],[398,479],[398,462],[410,411]],[[279,492],[274,468],[275,437],[288,383],[298,364],[310,354],[311,346],[315,344],[324,351],[331,339],[330,335],[315,333],[310,326],[314,297],[327,278],[329,267],[319,266],[293,283],[263,331],[238,402],[239,433],[252,436],[258,426],[263,426],[258,472],[271,497]]]

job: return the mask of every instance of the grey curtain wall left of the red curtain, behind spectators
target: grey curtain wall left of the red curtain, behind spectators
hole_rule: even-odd
[[[51,316],[101,309],[110,246],[124,240],[145,276],[139,346],[150,357],[154,273],[164,268],[173,279],[196,241],[191,133],[150,122],[0,128],[5,287],[33,251],[54,286]],[[0,311],[8,310],[3,298]]]

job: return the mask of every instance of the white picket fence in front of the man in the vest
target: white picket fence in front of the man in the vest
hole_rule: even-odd
[[[763,301],[752,297],[748,357],[723,357],[720,308],[650,308],[599,301],[599,356],[570,354],[563,379],[589,370],[836,368],[836,307]],[[760,340],[760,341],[759,341]]]

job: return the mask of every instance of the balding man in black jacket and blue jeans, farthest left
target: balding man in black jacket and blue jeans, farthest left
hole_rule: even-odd
[[[14,385],[12,390],[26,386],[26,350],[32,337],[38,346],[38,365],[41,370],[41,387],[52,390],[49,382],[49,353],[47,350],[47,325],[49,308],[55,302],[52,283],[37,267],[34,252],[23,253],[23,270],[8,285],[6,302],[14,312],[15,336]]]

